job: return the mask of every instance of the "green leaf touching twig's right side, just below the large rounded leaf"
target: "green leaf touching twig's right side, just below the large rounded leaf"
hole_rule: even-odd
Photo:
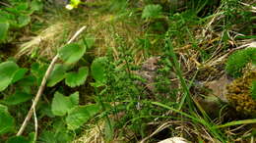
[[[52,87],[65,78],[66,67],[62,64],[56,64],[50,73],[47,86]]]

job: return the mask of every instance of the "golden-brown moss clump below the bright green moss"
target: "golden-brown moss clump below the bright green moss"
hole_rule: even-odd
[[[256,100],[252,98],[251,92],[255,80],[256,71],[249,71],[227,86],[226,98],[236,111],[256,116]]]

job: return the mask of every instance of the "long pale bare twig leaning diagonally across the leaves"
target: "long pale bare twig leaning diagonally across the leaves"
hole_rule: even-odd
[[[77,38],[77,36],[78,36],[85,28],[86,28],[86,26],[82,26],[82,27],[74,34],[74,36],[67,42],[67,44],[70,44],[71,42],[73,42],[73,41]],[[30,111],[29,111],[29,113],[28,113],[26,119],[24,119],[24,122],[23,122],[21,128],[19,129],[19,131],[18,131],[18,133],[17,133],[17,136],[23,134],[23,131],[24,131],[25,127],[27,126],[28,122],[29,122],[30,119],[32,118],[32,111],[33,111],[33,109],[35,109],[35,107],[36,107],[36,105],[37,105],[37,102],[39,101],[39,99],[40,99],[40,97],[41,97],[41,94],[42,94],[43,89],[44,89],[44,87],[45,87],[47,78],[49,77],[50,72],[53,70],[53,67],[54,67],[55,63],[57,62],[58,57],[59,57],[59,55],[57,54],[57,55],[52,59],[52,61],[51,61],[50,65],[49,65],[47,71],[45,72],[45,74],[44,74],[44,76],[43,76],[43,78],[42,78],[41,84],[40,84],[40,86],[39,86],[39,89],[38,89],[38,91],[37,91],[37,93],[36,93],[36,95],[35,95],[35,97],[34,97],[33,102],[32,102],[32,107],[31,107],[31,109],[30,109]]]

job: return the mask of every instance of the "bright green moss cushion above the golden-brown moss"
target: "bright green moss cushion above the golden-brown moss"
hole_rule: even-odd
[[[230,55],[225,65],[225,71],[233,76],[242,75],[243,68],[248,63],[256,63],[256,48],[246,48]]]

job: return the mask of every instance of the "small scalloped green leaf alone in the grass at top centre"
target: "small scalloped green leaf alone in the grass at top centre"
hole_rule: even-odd
[[[142,19],[159,18],[161,15],[160,5],[147,5],[142,12]]]

